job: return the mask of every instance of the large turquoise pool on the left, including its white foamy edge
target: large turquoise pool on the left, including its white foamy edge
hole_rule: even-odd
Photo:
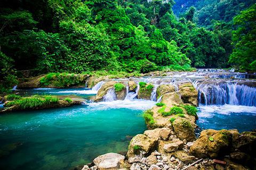
[[[0,116],[1,169],[70,169],[127,150],[155,103],[115,101]]]

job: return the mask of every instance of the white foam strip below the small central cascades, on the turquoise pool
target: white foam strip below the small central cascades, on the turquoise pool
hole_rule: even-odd
[[[93,109],[100,109],[100,110],[113,109],[113,108],[129,108],[133,110],[144,111],[146,109],[153,107],[155,104],[156,104],[155,101],[135,99],[135,100],[115,100],[111,102],[102,101],[99,103],[89,103],[87,105]]]

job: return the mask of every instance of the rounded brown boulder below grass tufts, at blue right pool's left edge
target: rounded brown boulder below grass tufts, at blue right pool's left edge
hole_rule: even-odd
[[[196,139],[193,125],[186,118],[177,118],[173,123],[173,131],[180,140],[193,142]]]

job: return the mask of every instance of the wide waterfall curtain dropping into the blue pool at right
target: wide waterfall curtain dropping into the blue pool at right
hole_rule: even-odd
[[[198,101],[205,105],[256,106],[256,88],[237,82],[194,83]]]

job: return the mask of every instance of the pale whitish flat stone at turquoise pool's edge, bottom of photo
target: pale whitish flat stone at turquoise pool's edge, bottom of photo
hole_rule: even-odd
[[[124,163],[125,157],[120,154],[108,153],[98,156],[93,160],[93,163],[99,168],[99,170],[105,169],[119,169],[120,165]]]

